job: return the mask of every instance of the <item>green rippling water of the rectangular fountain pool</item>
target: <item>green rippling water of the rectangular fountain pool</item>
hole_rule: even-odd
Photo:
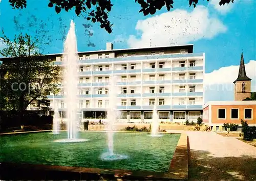
[[[166,172],[176,149],[180,134],[149,137],[149,133],[115,133],[114,153],[128,159],[104,161],[101,154],[108,151],[105,132],[80,132],[86,142],[57,143],[66,139],[67,132],[0,136],[0,162],[45,164],[104,169],[127,169]]]

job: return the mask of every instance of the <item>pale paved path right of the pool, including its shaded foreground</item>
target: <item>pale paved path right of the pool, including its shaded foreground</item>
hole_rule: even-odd
[[[187,132],[189,180],[256,180],[256,147],[212,132]]]

